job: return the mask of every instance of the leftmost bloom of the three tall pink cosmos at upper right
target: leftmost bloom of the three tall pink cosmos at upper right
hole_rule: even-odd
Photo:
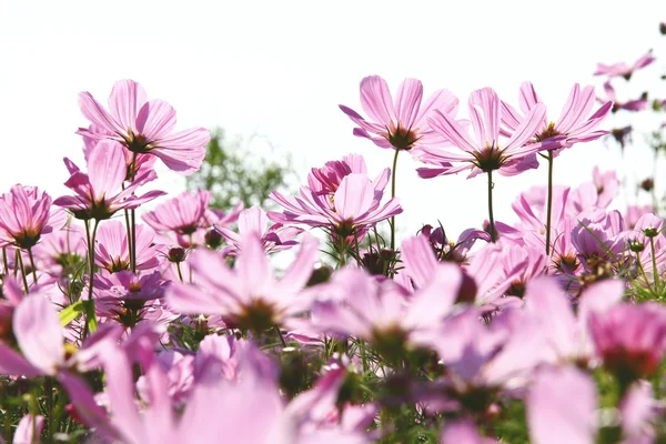
[[[366,121],[352,109],[340,105],[359,128],[354,135],[372,140],[377,147],[411,150],[415,147],[444,141],[427,123],[433,110],[455,114],[458,100],[448,90],[435,91],[422,107],[423,84],[416,79],[405,79],[397,90],[395,103],[386,81],[370,75],[361,81],[361,105],[372,121]]]

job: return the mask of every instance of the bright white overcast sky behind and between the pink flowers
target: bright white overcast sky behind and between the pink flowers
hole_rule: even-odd
[[[171,103],[179,129],[221,125],[245,138],[261,134],[251,148],[264,155],[291,152],[302,179],[309,168],[349,152],[364,154],[374,174],[390,167],[392,152],[353,137],[353,123],[337,108],[362,112],[363,77],[384,77],[392,92],[405,77],[422,80],[425,95],[447,88],[461,99],[458,115],[466,115],[474,89],[493,87],[516,103],[521,82],[531,80],[556,119],[574,82],[601,87],[592,77],[597,61],[633,62],[653,47],[664,54],[659,3],[0,0],[0,192],[20,182],[53,198],[64,193],[62,158],[82,159],[74,131],[88,124],[78,93],[90,91],[105,103],[123,78]],[[636,80],[653,82],[664,67],[658,60]],[[595,163],[617,168],[618,152],[603,143],[574,147],[555,162],[555,182],[588,180]],[[637,162],[627,158],[624,164]],[[481,225],[484,176],[424,181],[415,167],[401,154],[401,234],[437,219],[452,234]],[[518,191],[546,182],[543,167],[497,178],[496,219],[512,220]],[[158,184],[182,186],[169,172]]]

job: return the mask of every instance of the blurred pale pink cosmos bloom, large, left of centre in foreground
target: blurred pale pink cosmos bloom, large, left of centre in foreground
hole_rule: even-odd
[[[219,254],[192,252],[189,262],[194,284],[171,285],[167,302],[181,313],[220,314],[228,324],[262,332],[309,307],[309,300],[299,293],[312,274],[316,253],[316,240],[304,239],[296,259],[278,281],[261,240],[249,233],[234,270]]]

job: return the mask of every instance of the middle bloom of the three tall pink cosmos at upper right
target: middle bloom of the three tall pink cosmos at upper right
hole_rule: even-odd
[[[536,103],[527,115],[521,119],[506,142],[500,140],[503,111],[494,90],[484,88],[472,92],[468,107],[474,139],[468,135],[461,122],[446,113],[434,111],[427,119],[431,128],[450,140],[457,150],[423,148],[424,154],[420,160],[436,164],[438,168],[421,168],[417,170],[420,176],[434,178],[465,170],[471,171],[467,178],[495,170],[498,170],[500,174],[514,175],[528,168],[535,168],[532,161],[522,162],[526,157],[542,149],[539,144],[526,144],[546,115],[546,108],[542,103]]]

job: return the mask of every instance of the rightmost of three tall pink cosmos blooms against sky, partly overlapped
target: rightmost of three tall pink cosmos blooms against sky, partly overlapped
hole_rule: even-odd
[[[604,103],[594,114],[589,115],[594,100],[594,87],[587,85],[581,90],[578,83],[574,84],[557,122],[548,122],[544,110],[541,123],[532,131],[535,137],[531,142],[537,147],[541,143],[542,150],[554,150],[553,154],[557,155],[562,148],[569,148],[578,142],[589,142],[607,134],[608,131],[593,130],[608,115],[613,102]],[[519,104],[521,111],[525,114],[543,105],[531,82],[523,82],[521,85]],[[523,121],[521,113],[509,104],[502,102],[502,123],[509,131],[516,131]]]

